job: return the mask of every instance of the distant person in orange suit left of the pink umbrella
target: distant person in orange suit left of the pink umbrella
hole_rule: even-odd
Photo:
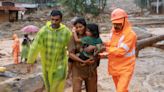
[[[13,45],[12,45],[12,55],[13,55],[13,59],[14,59],[14,64],[18,64],[19,60],[18,60],[18,55],[20,53],[20,41],[19,38],[17,36],[17,34],[13,35]]]

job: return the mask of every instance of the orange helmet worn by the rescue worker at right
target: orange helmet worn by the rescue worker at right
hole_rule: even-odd
[[[120,8],[113,10],[113,12],[111,13],[112,22],[115,20],[120,21],[120,19],[127,18],[127,17],[128,17],[127,13],[123,9],[120,9]]]

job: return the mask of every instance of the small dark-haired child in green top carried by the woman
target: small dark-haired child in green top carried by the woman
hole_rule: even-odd
[[[93,60],[96,56],[98,56],[102,40],[99,36],[99,28],[97,24],[87,24],[85,37],[78,38],[75,29],[73,30],[73,36],[77,43],[81,43],[79,58],[82,60]],[[94,48],[90,52],[87,52],[85,51],[85,48],[88,46],[93,46]]]

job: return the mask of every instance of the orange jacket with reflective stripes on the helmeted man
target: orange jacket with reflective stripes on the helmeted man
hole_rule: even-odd
[[[107,43],[108,71],[112,75],[132,72],[135,65],[136,34],[131,30],[128,21],[121,32],[112,29]]]

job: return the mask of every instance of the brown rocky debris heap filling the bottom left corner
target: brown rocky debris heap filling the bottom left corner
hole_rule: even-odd
[[[10,64],[5,66],[6,72],[0,76],[0,92],[42,92],[43,80],[41,66],[35,64],[29,73],[28,64]]]

